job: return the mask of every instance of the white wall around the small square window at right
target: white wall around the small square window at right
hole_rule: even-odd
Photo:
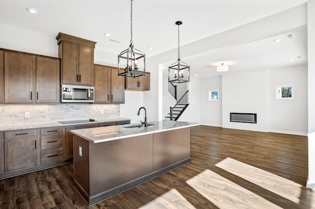
[[[275,100],[275,85],[294,84],[294,100]],[[268,70],[268,131],[308,132],[307,65]]]

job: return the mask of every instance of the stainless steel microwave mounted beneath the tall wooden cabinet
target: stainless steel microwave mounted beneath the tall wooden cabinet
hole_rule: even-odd
[[[94,103],[94,87],[62,85],[62,103]]]

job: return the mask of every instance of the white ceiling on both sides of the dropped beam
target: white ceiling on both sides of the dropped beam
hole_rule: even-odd
[[[133,43],[150,57],[177,48],[175,22],[178,20],[183,21],[180,26],[182,46],[305,2],[307,0],[133,0]],[[39,12],[31,14],[27,7]],[[130,0],[1,0],[0,24],[32,30],[51,36],[54,41],[57,34],[63,32],[97,42],[97,50],[118,54],[129,45]],[[105,32],[111,36],[105,36]],[[198,74],[199,78],[221,75],[215,71],[221,62],[233,69],[229,72],[307,64],[307,30],[292,33],[294,38],[290,40],[283,34],[183,61],[191,66],[191,75]],[[110,38],[123,43],[109,41]],[[276,38],[282,41],[274,43]],[[177,54],[174,61],[176,59]],[[293,61],[288,62],[288,59]]]

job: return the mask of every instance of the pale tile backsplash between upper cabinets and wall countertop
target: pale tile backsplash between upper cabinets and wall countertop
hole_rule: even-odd
[[[104,114],[100,114],[103,110]],[[25,118],[30,112],[30,118]],[[0,126],[120,117],[120,104],[1,104]]]

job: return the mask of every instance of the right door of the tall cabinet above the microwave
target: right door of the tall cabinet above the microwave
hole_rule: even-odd
[[[94,49],[80,45],[79,47],[79,84],[94,85]]]

